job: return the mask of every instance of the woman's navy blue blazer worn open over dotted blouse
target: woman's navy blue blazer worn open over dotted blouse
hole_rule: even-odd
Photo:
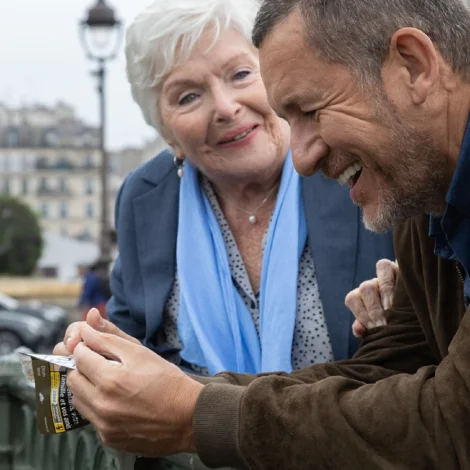
[[[351,357],[358,341],[346,294],[375,277],[381,258],[395,259],[392,235],[368,232],[349,188],[321,174],[302,179],[309,243],[335,360]],[[157,346],[176,270],[179,178],[165,150],[124,181],[116,201],[119,256],[111,275],[110,320],[163,357]]]

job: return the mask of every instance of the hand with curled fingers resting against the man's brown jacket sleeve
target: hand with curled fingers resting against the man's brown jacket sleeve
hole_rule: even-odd
[[[346,307],[356,317],[352,330],[356,338],[362,338],[367,329],[385,326],[385,310],[393,304],[393,291],[397,281],[398,264],[388,259],[377,262],[377,277],[364,281],[345,299]]]

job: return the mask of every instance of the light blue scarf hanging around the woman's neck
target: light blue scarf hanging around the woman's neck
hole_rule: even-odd
[[[292,370],[299,259],[307,238],[300,178],[287,154],[263,253],[260,333],[233,284],[219,224],[188,162],[177,236],[181,357],[211,374]]]

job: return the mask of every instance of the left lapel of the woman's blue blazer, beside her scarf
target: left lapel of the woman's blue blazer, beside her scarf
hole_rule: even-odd
[[[161,326],[164,305],[175,278],[178,199],[179,180],[175,171],[134,199],[147,331],[157,331]]]

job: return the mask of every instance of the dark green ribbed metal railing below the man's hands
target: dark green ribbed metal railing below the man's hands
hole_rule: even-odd
[[[0,357],[0,470],[132,470],[134,457],[104,446],[93,426],[40,434],[34,385],[16,355]],[[149,470],[208,470],[196,455],[155,460]]]

